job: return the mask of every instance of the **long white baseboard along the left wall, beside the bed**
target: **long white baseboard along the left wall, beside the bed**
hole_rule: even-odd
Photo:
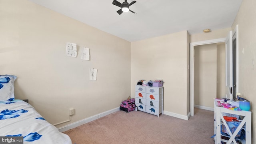
[[[91,121],[93,121],[93,120],[97,120],[98,118],[101,118],[101,117],[106,116],[106,115],[108,115],[108,114],[112,114],[113,112],[117,112],[117,111],[120,110],[119,108],[120,108],[120,107],[117,107],[117,108],[114,108],[114,109],[112,109],[112,110],[108,110],[108,111],[106,111],[106,112],[102,112],[102,113],[100,113],[100,114],[96,114],[96,115],[91,116],[91,117],[89,117],[89,118],[85,118],[85,119],[80,120],[80,121],[78,121],[78,122],[74,122],[74,123],[72,123],[72,124],[68,124],[68,125],[66,125],[66,126],[62,126],[62,127],[58,128],[58,130],[59,130],[60,132],[65,132],[65,131],[70,130],[70,129],[72,129],[72,128],[76,128],[76,127],[78,127],[78,126],[81,126],[81,125],[83,125],[83,124],[86,124],[86,123],[88,123],[88,122],[91,122]]]

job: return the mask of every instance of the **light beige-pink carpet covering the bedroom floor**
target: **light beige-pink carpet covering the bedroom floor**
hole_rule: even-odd
[[[195,116],[182,120],[118,111],[64,133],[73,144],[214,144],[214,112],[195,108]]]

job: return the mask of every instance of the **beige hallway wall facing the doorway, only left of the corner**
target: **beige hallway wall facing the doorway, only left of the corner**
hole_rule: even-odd
[[[216,83],[217,45],[194,46],[194,104],[213,108]]]

